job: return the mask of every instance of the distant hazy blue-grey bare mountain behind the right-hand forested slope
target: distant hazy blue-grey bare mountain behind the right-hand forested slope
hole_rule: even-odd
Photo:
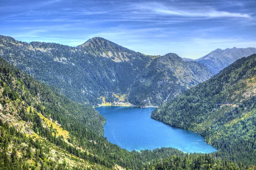
[[[198,63],[205,65],[212,74],[217,74],[223,68],[229,66],[237,59],[256,54],[256,48],[227,48],[225,50],[216,49],[204,57],[196,59]]]

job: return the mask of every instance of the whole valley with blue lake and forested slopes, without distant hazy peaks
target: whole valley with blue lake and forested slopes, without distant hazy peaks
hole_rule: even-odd
[[[255,55],[213,76],[99,37],[75,48],[0,40],[0,167],[253,169]]]

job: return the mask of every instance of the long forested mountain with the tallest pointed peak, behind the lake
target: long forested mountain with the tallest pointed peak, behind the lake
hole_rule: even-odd
[[[105,92],[125,93],[134,81],[136,71],[150,61],[143,54],[115,46],[107,40],[105,45],[109,43],[109,54],[103,52],[102,56],[110,55],[110,58],[102,57],[98,53],[105,49],[104,45],[102,48],[93,46],[95,41],[101,42],[101,39],[90,39],[84,44],[86,46],[76,48],[55,43],[18,42],[11,37],[1,36],[0,51],[7,61],[36,79],[57,87],[70,99],[95,105],[102,102],[100,96],[104,96]],[[90,48],[85,48],[87,46]],[[128,62],[115,58],[119,54],[114,50],[118,52],[119,48],[128,57]],[[131,55],[132,58],[129,57]]]

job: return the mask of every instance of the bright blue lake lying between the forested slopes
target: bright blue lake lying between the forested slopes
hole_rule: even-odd
[[[217,151],[204,142],[197,133],[171,127],[151,119],[155,108],[102,106],[96,108],[107,122],[104,136],[113,144],[126,150],[146,150],[174,147],[188,153],[212,153]]]

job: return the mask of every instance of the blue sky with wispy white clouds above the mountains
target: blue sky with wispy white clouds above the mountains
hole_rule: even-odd
[[[0,35],[70,46],[103,37],[148,55],[196,59],[256,47],[256,0],[0,0]]]

